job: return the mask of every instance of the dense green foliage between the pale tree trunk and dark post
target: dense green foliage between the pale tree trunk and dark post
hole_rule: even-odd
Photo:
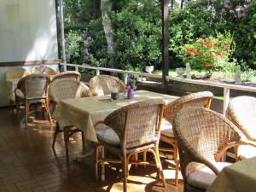
[[[113,12],[113,63],[127,70],[160,67],[160,3],[155,0],[130,1]]]

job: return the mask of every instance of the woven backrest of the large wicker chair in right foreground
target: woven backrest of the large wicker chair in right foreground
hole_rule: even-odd
[[[204,160],[215,161],[225,146],[241,139],[239,130],[229,119],[207,108],[183,108],[173,126],[177,138],[183,177],[195,171]],[[216,156],[215,156],[216,155]]]

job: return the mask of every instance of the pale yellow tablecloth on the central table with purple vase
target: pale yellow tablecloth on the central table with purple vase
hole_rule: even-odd
[[[86,139],[97,142],[96,132],[93,126],[96,121],[103,120],[115,109],[150,98],[163,98],[167,103],[177,99],[177,96],[167,96],[147,90],[137,90],[133,100],[123,98],[117,101],[111,101],[110,96],[67,99],[61,101],[56,106],[53,118],[57,120],[61,128],[67,125],[74,125],[84,131]]]

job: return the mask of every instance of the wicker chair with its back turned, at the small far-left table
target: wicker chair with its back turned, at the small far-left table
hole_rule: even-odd
[[[49,113],[47,87],[49,85],[49,77],[43,74],[30,74],[20,79],[15,89],[15,100],[17,113],[19,114],[20,103],[25,105],[26,110],[26,128],[29,108],[32,103],[41,103],[42,108],[45,108],[49,117],[49,122],[52,123]]]

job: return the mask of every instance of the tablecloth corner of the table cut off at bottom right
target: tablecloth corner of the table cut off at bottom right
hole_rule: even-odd
[[[207,192],[256,191],[256,157],[224,167]]]

